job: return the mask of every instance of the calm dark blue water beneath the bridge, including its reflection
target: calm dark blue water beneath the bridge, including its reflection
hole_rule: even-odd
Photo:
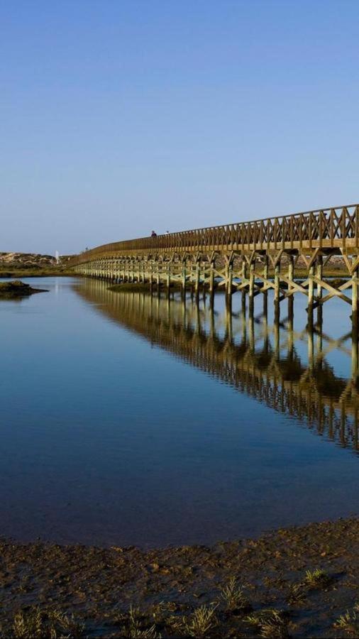
[[[2,536],[209,543],[358,513],[348,308],[308,339],[104,283],[0,302]],[[285,307],[283,307],[284,309]],[[350,310],[350,309],[349,309]]]

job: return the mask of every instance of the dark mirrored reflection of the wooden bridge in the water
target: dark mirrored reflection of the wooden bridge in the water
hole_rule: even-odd
[[[206,297],[114,293],[96,279],[82,279],[76,290],[151,344],[295,417],[328,441],[359,450],[358,339],[351,331],[331,339],[321,324],[295,331],[293,315],[270,324],[266,307],[246,316],[245,307],[236,314],[223,304],[219,312]],[[349,378],[328,363],[333,351],[347,359]]]

